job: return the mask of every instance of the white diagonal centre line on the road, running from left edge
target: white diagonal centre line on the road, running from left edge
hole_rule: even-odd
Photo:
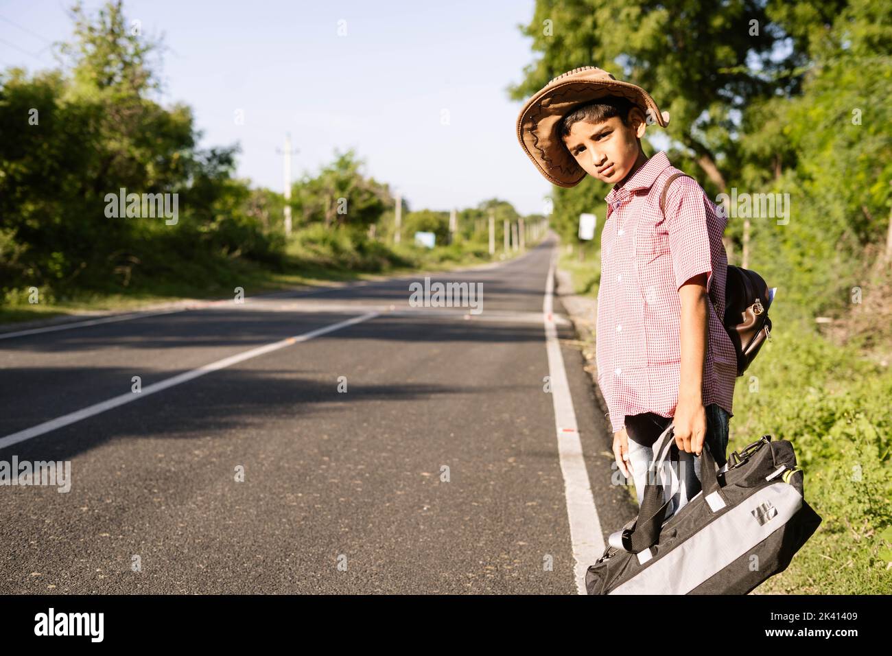
[[[51,430],[62,428],[63,426],[68,426],[69,424],[73,424],[74,422],[80,421],[81,419],[93,417],[100,412],[111,410],[111,408],[117,408],[119,405],[123,405],[124,403],[131,403],[133,401],[136,401],[137,399],[147,396],[148,394],[161,392],[161,390],[163,389],[185,383],[186,381],[192,380],[193,378],[198,378],[199,376],[203,376],[204,374],[211,373],[211,371],[225,369],[226,367],[231,367],[232,365],[238,364],[239,362],[244,362],[245,360],[256,358],[258,355],[271,353],[281,348],[285,348],[285,346],[297,344],[298,342],[306,342],[313,337],[325,335],[326,333],[330,333],[339,328],[346,328],[347,326],[359,323],[360,321],[374,319],[375,317],[379,316],[379,314],[379,312],[368,312],[367,314],[360,315],[359,317],[353,317],[352,319],[333,323],[330,326],[323,326],[322,328],[317,328],[316,330],[310,330],[309,333],[304,333],[303,335],[285,337],[285,339],[281,339],[278,342],[273,342],[272,344],[268,344],[265,346],[259,346],[257,348],[251,349],[250,351],[245,351],[244,353],[236,353],[235,355],[230,355],[228,358],[224,358],[223,360],[205,364],[198,369],[185,371],[181,374],[178,374],[177,376],[172,376],[171,378],[165,378],[164,380],[160,380],[157,383],[153,383],[152,385],[143,387],[142,392],[126,392],[125,394],[114,396],[111,399],[108,399],[101,403],[94,403],[93,405],[87,406],[86,408],[83,408],[81,410],[62,415],[62,417],[56,417],[55,419],[50,419],[49,421],[45,421],[42,424],[37,424],[37,426],[25,428],[24,430],[20,430],[18,433],[12,433],[8,436],[0,437],[0,449],[11,446],[12,444],[19,444],[20,442],[29,440],[32,437],[44,435],[45,433],[49,433]]]

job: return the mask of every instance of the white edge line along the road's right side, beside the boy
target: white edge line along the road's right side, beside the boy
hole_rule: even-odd
[[[604,536],[598,509],[589,484],[589,472],[585,469],[582,457],[582,442],[576,426],[576,411],[573,396],[566,379],[564,356],[560,352],[558,328],[553,319],[553,296],[555,268],[558,249],[551,253],[549,279],[545,284],[545,301],[542,314],[545,317],[546,351],[549,356],[549,378],[551,380],[551,400],[555,408],[555,428],[558,434],[558,454],[560,468],[564,475],[566,511],[570,520],[570,540],[573,544],[575,561],[574,572],[576,590],[587,594],[585,572],[589,565],[597,561],[604,552]]]

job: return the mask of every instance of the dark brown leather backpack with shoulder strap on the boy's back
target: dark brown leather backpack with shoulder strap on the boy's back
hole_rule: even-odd
[[[681,176],[693,179],[687,173],[673,173],[665,181],[660,195],[660,212],[664,217],[666,192],[673,179]],[[738,376],[743,376],[765,340],[771,339],[772,320],[768,318],[768,308],[773,300],[773,290],[756,271],[728,265],[722,323],[737,353]]]

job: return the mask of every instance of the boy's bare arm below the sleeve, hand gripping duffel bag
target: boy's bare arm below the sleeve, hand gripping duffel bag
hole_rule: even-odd
[[[679,287],[678,295],[681,300],[681,371],[673,433],[680,449],[699,455],[706,437],[706,409],[703,407],[703,364],[709,338],[706,273],[689,278]]]

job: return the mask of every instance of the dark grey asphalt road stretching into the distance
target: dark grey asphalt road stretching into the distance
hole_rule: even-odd
[[[415,276],[0,334],[0,461],[70,461],[67,493],[0,486],[0,592],[578,594],[636,508],[556,296],[587,481],[562,461],[555,245],[434,277],[479,314]]]

